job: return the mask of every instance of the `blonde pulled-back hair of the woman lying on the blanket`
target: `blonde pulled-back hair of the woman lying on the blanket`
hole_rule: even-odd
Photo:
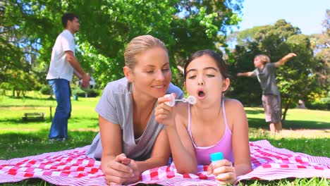
[[[125,66],[128,66],[130,69],[134,69],[137,63],[135,56],[155,47],[161,47],[166,52],[168,52],[164,42],[161,42],[161,40],[157,39],[156,37],[151,35],[141,35],[135,37],[126,46],[124,52]]]

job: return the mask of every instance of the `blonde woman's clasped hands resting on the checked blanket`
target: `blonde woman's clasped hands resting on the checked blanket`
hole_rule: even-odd
[[[125,154],[119,154],[115,159],[102,165],[102,171],[109,185],[133,183],[140,177],[137,164],[132,159],[128,159]]]

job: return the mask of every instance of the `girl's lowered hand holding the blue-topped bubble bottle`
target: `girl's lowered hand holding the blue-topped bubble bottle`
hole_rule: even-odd
[[[216,179],[216,182],[221,185],[233,184],[236,179],[235,168],[233,167],[231,161],[226,159],[209,164],[207,174],[210,175],[212,173]]]

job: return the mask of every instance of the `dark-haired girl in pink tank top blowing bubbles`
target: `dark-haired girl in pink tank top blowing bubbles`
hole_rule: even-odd
[[[166,125],[173,161],[178,173],[197,173],[197,165],[209,165],[207,172],[217,182],[233,183],[251,170],[247,118],[242,104],[224,99],[230,80],[226,64],[212,50],[197,51],[184,68],[185,88],[197,103],[166,104],[158,99],[156,120]],[[179,135],[180,134],[180,135]],[[224,160],[212,165],[209,154],[221,151]]]

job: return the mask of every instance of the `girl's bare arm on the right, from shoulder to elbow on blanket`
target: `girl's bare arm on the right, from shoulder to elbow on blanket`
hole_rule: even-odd
[[[251,170],[248,123],[243,105],[237,100],[231,101],[233,111],[232,145],[236,177]]]

